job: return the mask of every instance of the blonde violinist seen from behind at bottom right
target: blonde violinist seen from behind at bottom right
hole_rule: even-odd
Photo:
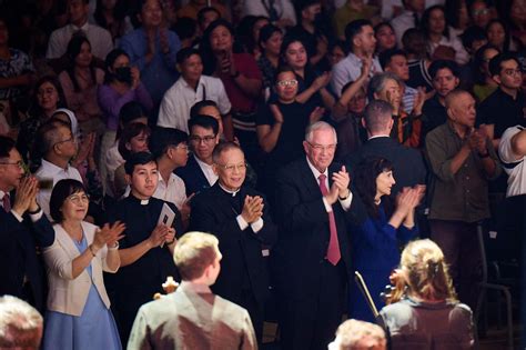
[[[408,243],[391,279],[395,291],[380,312],[391,349],[473,349],[472,310],[458,302],[444,253],[435,242]]]

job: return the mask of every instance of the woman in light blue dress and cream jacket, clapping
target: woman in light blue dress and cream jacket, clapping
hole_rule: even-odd
[[[43,251],[49,294],[43,349],[122,349],[102,271],[117,272],[124,224],[83,221],[89,198],[81,182],[61,180],[51,193],[55,239]]]

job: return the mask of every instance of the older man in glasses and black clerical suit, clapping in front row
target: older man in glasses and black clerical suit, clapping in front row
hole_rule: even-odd
[[[264,198],[243,184],[246,162],[241,148],[219,143],[213,162],[219,181],[192,201],[190,229],[218,237],[223,262],[212,290],[249,310],[261,341],[269,294],[264,246],[274,243],[277,229]]]

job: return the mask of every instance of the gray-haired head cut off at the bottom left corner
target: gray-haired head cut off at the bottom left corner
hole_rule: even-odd
[[[43,319],[33,307],[11,296],[0,297],[0,348],[39,349]]]

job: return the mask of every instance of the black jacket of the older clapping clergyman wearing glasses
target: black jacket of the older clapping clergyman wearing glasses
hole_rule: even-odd
[[[263,197],[245,186],[236,196],[240,196],[241,202],[246,196]],[[243,288],[249,287],[256,301],[263,304],[269,293],[269,274],[262,256],[262,246],[272,246],[275,242],[277,228],[269,214],[266,200],[264,200],[264,224],[257,233],[254,233],[250,226],[244,231],[240,229],[236,217],[241,214],[241,210],[232,207],[229,197],[216,182],[192,201],[190,230],[210,232],[220,241],[223,259],[220,276],[212,287],[214,293],[239,302]]]

